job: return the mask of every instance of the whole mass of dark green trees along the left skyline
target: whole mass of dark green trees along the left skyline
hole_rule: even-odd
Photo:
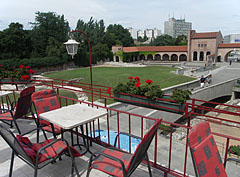
[[[11,23],[7,29],[0,31],[0,60],[39,57],[66,58],[63,45],[69,39],[70,27],[64,15],[55,12],[36,12],[35,21],[30,23],[31,30],[24,30],[20,23]],[[82,30],[90,39],[93,62],[112,58],[112,45],[133,46],[133,39],[127,29],[113,24],[105,27],[104,21],[92,17],[88,22],[79,19],[76,30]],[[89,64],[87,39],[80,33],[74,33],[80,42],[74,62],[80,66]],[[70,56],[68,57],[70,60]]]

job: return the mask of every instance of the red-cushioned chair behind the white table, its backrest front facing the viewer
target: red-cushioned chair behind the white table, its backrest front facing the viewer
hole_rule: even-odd
[[[32,94],[32,103],[33,109],[37,116],[37,124],[41,130],[43,130],[44,136],[47,139],[45,131],[53,133],[53,136],[56,138],[56,135],[62,133],[61,127],[57,125],[52,125],[46,120],[39,118],[39,114],[48,112],[51,110],[59,109],[60,104],[58,101],[57,94],[54,90],[40,90]],[[33,113],[34,116],[34,113]],[[37,141],[39,139],[39,129],[37,132]]]

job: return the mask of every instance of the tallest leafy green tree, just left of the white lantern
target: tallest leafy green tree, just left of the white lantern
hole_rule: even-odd
[[[35,22],[31,23],[32,40],[34,53],[32,55],[44,57],[47,55],[46,49],[49,38],[63,43],[68,39],[70,30],[68,22],[64,15],[57,15],[54,12],[36,12]]]

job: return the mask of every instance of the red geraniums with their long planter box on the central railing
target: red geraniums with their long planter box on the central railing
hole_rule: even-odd
[[[110,89],[107,90],[107,93],[109,92]],[[128,104],[174,113],[183,113],[185,109],[184,102],[178,102],[180,99],[175,101],[175,97],[171,98],[170,96],[163,95],[160,85],[153,84],[153,81],[150,79],[146,80],[144,84],[141,84],[139,77],[128,77],[126,83],[118,83],[113,93],[116,101]],[[186,92],[183,96],[185,99],[188,98],[186,97],[187,93],[189,92]]]

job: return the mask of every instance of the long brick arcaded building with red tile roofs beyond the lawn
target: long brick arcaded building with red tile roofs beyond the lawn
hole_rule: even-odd
[[[188,32],[187,46],[113,46],[115,62],[158,60],[159,62],[223,62],[240,50],[240,43],[223,44],[221,32]]]

